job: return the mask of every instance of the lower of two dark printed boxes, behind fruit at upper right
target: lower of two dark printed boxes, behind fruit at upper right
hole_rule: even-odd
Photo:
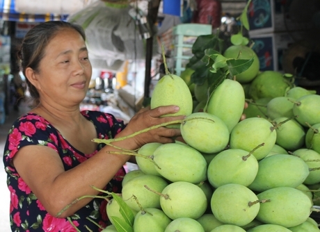
[[[282,72],[282,55],[294,43],[289,33],[251,35],[250,39],[255,43],[253,50],[259,57],[260,70]]]

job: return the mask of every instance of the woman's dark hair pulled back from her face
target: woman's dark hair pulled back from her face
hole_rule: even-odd
[[[45,48],[49,44],[50,40],[61,30],[65,28],[72,28],[77,31],[83,40],[86,40],[86,35],[83,28],[77,24],[71,24],[70,22],[63,21],[49,21],[38,24],[31,28],[24,36],[22,44],[18,52],[18,58],[22,67],[22,72],[26,76],[26,68],[31,67],[34,72],[39,72],[39,64],[45,54]],[[39,103],[38,90],[29,82],[26,78],[26,85],[29,88],[33,105]]]

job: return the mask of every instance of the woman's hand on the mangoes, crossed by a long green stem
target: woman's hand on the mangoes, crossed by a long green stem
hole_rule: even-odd
[[[178,106],[160,106],[152,110],[150,109],[150,107],[143,108],[136,115],[134,115],[134,117],[132,117],[129,124],[127,124],[126,126],[126,129],[122,132],[127,135],[130,135],[143,129],[150,128],[151,126],[157,126],[165,122],[172,122],[175,120],[184,119],[184,115],[161,117],[163,115],[177,113],[178,111]],[[141,147],[143,144],[149,142],[173,142],[174,138],[180,135],[180,129],[173,129],[167,128],[165,126],[160,126],[157,129],[152,129],[147,132],[138,134],[134,136],[133,139],[136,142],[137,147]]]

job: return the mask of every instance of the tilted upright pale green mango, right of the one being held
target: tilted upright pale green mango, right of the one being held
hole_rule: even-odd
[[[238,81],[225,79],[211,94],[207,113],[222,119],[231,132],[241,118],[244,103],[245,94],[242,85]]]

